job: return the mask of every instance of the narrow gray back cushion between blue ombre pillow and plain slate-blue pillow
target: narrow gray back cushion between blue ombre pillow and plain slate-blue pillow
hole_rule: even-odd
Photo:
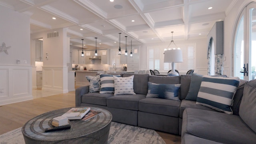
[[[180,76],[180,100],[184,100],[190,87],[191,75]]]

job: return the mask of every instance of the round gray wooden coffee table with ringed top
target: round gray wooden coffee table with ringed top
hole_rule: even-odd
[[[52,118],[61,116],[71,108],[47,112],[32,118],[22,127],[26,144],[106,144],[112,120],[112,114],[102,108],[90,107],[101,111],[87,121],[70,120],[71,128],[54,132],[44,132],[51,125]]]

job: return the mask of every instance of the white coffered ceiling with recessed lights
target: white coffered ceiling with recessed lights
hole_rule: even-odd
[[[73,46],[95,48],[206,38],[237,0],[0,0],[30,15],[31,33],[67,28]],[[208,10],[209,7],[212,9]],[[52,19],[53,17],[56,20]],[[132,22],[134,20],[134,22]],[[82,30],[80,30],[82,29]],[[116,42],[116,43],[115,43]]]

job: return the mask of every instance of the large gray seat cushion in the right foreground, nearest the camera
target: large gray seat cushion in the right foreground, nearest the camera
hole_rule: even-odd
[[[239,116],[222,112],[186,108],[182,138],[186,133],[224,144],[256,144],[256,133]]]

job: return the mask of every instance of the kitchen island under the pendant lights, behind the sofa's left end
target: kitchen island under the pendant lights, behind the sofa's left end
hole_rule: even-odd
[[[105,74],[104,70],[76,70],[76,86],[85,86],[90,83],[85,76],[96,76],[97,74]]]

